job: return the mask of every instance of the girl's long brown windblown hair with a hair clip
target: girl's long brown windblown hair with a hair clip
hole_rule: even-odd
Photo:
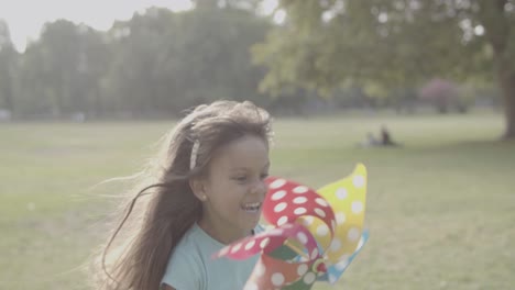
[[[99,257],[96,288],[158,289],[174,248],[202,214],[189,179],[206,176],[213,152],[231,141],[255,135],[269,144],[270,125],[269,113],[248,101],[202,104],[185,116],[165,136],[147,178],[125,205],[123,219]],[[123,242],[114,243],[120,237]]]

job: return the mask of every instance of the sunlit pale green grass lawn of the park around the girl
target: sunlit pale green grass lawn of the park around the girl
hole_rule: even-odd
[[[0,289],[87,289],[110,209],[173,122],[0,125]],[[386,124],[401,148],[359,148]],[[272,174],[319,187],[369,169],[371,238],[338,289],[513,289],[515,143],[502,119],[278,120]],[[332,289],[317,285],[315,289]]]

